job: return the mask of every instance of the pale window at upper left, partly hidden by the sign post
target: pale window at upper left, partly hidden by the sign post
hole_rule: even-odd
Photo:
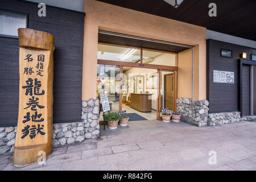
[[[27,28],[27,14],[0,9],[0,36],[18,38],[18,28]]]

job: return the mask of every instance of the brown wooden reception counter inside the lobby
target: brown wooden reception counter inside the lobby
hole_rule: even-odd
[[[131,108],[143,113],[151,112],[151,96],[148,93],[131,93]]]

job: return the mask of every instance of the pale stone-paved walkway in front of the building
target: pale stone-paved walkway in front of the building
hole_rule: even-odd
[[[210,165],[209,151],[217,164]],[[54,148],[44,166],[16,168],[12,154],[0,156],[0,170],[256,170],[256,123],[215,127],[134,121],[105,131],[97,140]]]

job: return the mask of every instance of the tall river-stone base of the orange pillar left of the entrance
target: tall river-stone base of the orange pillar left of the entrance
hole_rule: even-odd
[[[82,121],[85,128],[85,139],[100,137],[100,102],[98,99],[82,101]]]

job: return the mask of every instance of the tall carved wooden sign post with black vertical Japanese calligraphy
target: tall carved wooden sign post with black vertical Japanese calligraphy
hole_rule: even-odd
[[[38,162],[52,152],[54,36],[19,28],[19,115],[14,166]]]

